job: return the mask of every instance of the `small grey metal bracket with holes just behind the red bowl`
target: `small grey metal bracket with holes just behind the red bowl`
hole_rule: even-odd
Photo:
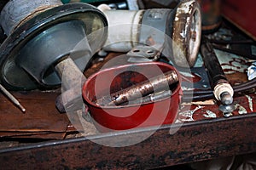
[[[159,59],[160,52],[150,46],[137,46],[136,48],[132,48],[131,51],[127,53],[127,56],[130,56],[128,62],[147,62]]]

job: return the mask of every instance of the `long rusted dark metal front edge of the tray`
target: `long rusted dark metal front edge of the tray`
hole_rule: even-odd
[[[187,122],[182,127],[161,127],[145,141],[127,147],[91,142],[129,143],[151,129],[106,133],[0,150],[6,169],[32,168],[154,168],[256,151],[255,114]],[[170,134],[172,130],[177,133]],[[170,131],[171,130],[171,131]]]

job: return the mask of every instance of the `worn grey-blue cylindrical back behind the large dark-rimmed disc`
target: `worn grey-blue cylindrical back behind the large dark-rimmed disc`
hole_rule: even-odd
[[[59,6],[61,0],[10,0],[0,16],[0,24],[7,36],[20,24],[46,9]]]

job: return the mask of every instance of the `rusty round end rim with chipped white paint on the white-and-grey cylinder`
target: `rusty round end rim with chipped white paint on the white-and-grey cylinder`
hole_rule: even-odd
[[[177,65],[195,65],[201,42],[201,10],[196,1],[183,1],[173,20],[172,48]],[[184,57],[185,56],[185,57]]]

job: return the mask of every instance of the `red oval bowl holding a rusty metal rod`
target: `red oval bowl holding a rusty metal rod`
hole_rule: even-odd
[[[96,128],[101,132],[111,132],[174,122],[182,96],[181,78],[178,73],[179,81],[172,86],[171,97],[137,105],[102,106],[94,102],[104,95],[159,76],[166,71],[176,69],[165,63],[148,62],[116,66],[90,76],[84,82],[82,93]]]

